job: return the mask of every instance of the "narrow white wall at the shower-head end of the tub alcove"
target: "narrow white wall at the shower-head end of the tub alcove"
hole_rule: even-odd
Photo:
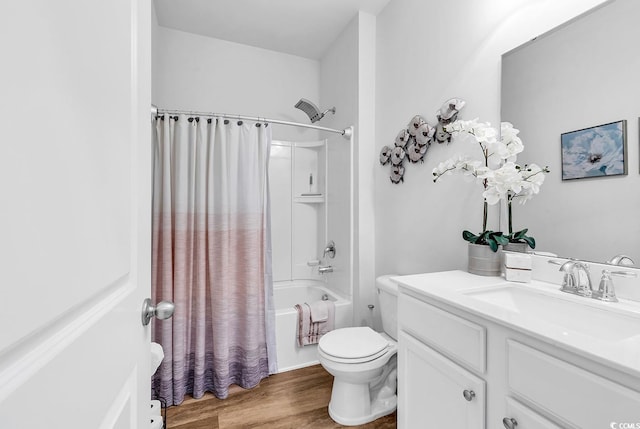
[[[328,231],[339,249],[331,282],[343,293],[350,293],[353,284],[356,325],[376,323],[367,307],[376,304],[375,31],[375,16],[360,12],[322,58],[320,73],[322,102],[336,106],[335,117],[328,118],[326,125],[354,126],[353,145],[342,137],[329,141]],[[348,186],[352,181],[353,194]],[[348,269],[350,264],[353,271]]]

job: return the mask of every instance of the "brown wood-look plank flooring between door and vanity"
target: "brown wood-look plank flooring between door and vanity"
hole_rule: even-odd
[[[232,386],[221,400],[207,393],[167,409],[167,429],[341,428],[327,411],[333,377],[320,365],[275,374],[251,389]],[[396,413],[361,426],[396,427]]]

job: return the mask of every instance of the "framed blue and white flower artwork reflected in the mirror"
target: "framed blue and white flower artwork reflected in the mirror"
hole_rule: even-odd
[[[562,134],[562,180],[627,174],[626,125],[618,121]]]

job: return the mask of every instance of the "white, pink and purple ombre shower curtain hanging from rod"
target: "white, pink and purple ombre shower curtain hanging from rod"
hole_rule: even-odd
[[[277,370],[267,124],[164,115],[153,133],[152,294],[173,301],[153,340],[167,404],[226,398]]]

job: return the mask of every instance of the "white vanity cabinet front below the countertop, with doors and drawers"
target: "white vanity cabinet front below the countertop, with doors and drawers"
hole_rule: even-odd
[[[640,427],[640,377],[403,286],[398,325],[399,428]]]

